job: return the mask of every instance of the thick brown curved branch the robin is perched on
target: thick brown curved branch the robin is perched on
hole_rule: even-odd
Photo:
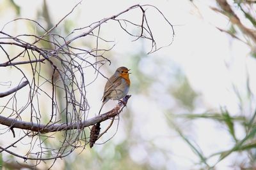
[[[36,124],[33,122],[24,122],[20,120],[16,120],[15,118],[6,118],[0,115],[0,124],[6,125],[12,128],[18,128],[23,130],[35,131],[40,133],[47,133],[47,132],[57,132],[57,131],[68,131],[72,129],[83,129],[84,127],[88,127],[90,125],[97,124],[99,122],[103,122],[108,120],[109,118],[113,118],[116,115],[119,115],[122,109],[126,106],[128,99],[131,96],[125,96],[123,101],[124,103],[119,103],[113,110],[108,111],[102,115],[98,115],[96,117],[90,118],[88,120],[84,120],[82,123],[74,123],[74,124],[50,124],[50,125],[43,125],[43,124]]]

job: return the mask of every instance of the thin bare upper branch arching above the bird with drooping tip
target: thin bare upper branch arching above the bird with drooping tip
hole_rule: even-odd
[[[120,25],[120,27],[125,31],[127,32],[129,35],[131,36],[135,36],[136,39],[134,41],[136,41],[137,39],[139,38],[145,38],[145,39],[149,39],[150,41],[152,41],[152,49],[150,50],[150,52],[148,53],[152,53],[152,52],[156,52],[157,50],[163,48],[164,46],[161,46],[159,48],[156,47],[156,40],[153,38],[153,32],[150,30],[150,25],[148,24],[147,22],[147,18],[146,18],[146,15],[145,15],[145,10],[143,9],[143,7],[152,7],[152,8],[155,8],[155,10],[157,10],[161,15],[162,17],[164,18],[164,20],[168,23],[168,25],[170,25],[170,27],[172,28],[172,38],[171,38],[171,41],[168,45],[166,46],[170,46],[173,42],[173,38],[174,38],[174,29],[173,29],[173,25],[167,20],[166,17],[164,17],[163,13],[158,9],[156,8],[155,6],[152,6],[152,5],[149,5],[149,4],[145,4],[145,5],[140,5],[140,4],[135,4],[129,8],[127,8],[126,10],[124,11],[121,11],[120,13],[117,13],[116,15],[113,15],[111,17],[107,17],[107,18],[103,18],[102,20],[99,20],[98,22],[93,22],[92,24],[86,26],[86,27],[83,27],[83,28],[79,28],[79,29],[74,29],[74,31],[77,31],[77,30],[83,30],[83,29],[86,29],[86,28],[89,28],[88,31],[85,31],[81,34],[78,34],[77,36],[75,36],[74,38],[71,38],[69,39],[68,41],[66,41],[66,38],[68,36],[70,36],[70,34],[74,33],[74,31],[70,32],[70,34],[68,34],[66,36],[66,38],[63,38],[65,40],[65,43],[61,44],[61,45],[58,45],[58,48],[55,48],[52,52],[47,52],[45,53],[45,55],[43,55],[44,58],[42,59],[35,59],[35,60],[26,60],[26,61],[22,61],[22,62],[12,62],[13,60],[17,59],[23,52],[20,52],[17,56],[15,56],[13,59],[9,59],[8,61],[4,62],[4,63],[0,63],[0,67],[6,67],[6,66],[13,66],[13,65],[16,65],[16,64],[31,64],[32,62],[44,62],[44,60],[46,59],[50,59],[52,56],[56,55],[56,53],[58,53],[59,50],[62,50],[63,48],[65,48],[65,46],[67,47],[70,47],[70,44],[75,41],[76,39],[79,39],[79,38],[83,38],[85,36],[94,36],[93,35],[93,31],[95,31],[95,29],[97,29],[98,27],[100,27],[100,25],[104,24],[104,23],[107,23],[109,20],[115,20],[117,22],[119,22],[120,24],[120,20],[123,20],[124,22],[127,20],[124,20],[124,19],[116,19],[118,17],[120,17],[121,15],[123,15],[124,13],[127,13],[128,11],[131,11],[131,10],[134,10],[136,8],[140,8],[140,10],[143,12],[143,19],[141,21],[141,25],[138,25],[138,24],[134,24],[132,22],[129,22],[130,24],[132,25],[136,25],[136,26],[139,26],[141,27],[141,34],[136,36],[136,35],[133,35],[131,34],[129,31],[127,31],[124,27],[122,27],[122,24]],[[74,10],[74,9],[73,9]],[[68,13],[69,14],[69,13]],[[67,15],[65,16],[67,17]],[[64,17],[64,18],[65,18]],[[63,19],[64,19],[63,18]],[[61,21],[63,20],[61,19]],[[26,20],[29,20],[29,19],[26,19]],[[60,22],[61,22],[60,21]],[[145,22],[144,22],[145,21]],[[58,22],[58,24],[60,24],[60,22]],[[38,22],[36,22],[36,24],[40,25]],[[57,25],[58,25],[57,24]],[[145,24],[145,26],[143,25]],[[40,25],[40,27],[42,27]],[[52,29],[54,29],[55,27],[53,27]],[[50,31],[52,31],[52,29],[50,29]],[[2,29],[3,30],[3,29]],[[144,30],[144,31],[143,31]],[[40,37],[36,37],[36,41],[34,43],[26,43],[26,42],[23,42],[22,45],[20,45],[19,43],[21,43],[20,41],[22,41],[21,39],[19,39],[18,37],[13,37],[13,36],[10,36],[6,33],[4,33],[3,31],[0,31],[1,34],[4,34],[6,36],[8,36],[8,38],[10,39],[13,39],[14,41],[19,41],[19,43],[4,43],[4,42],[1,42],[0,44],[10,44],[10,45],[16,45],[16,46],[22,46],[23,48],[28,48],[30,46],[32,46],[31,50],[35,50],[34,48],[37,48],[34,44],[37,43],[38,41],[40,40],[44,40],[42,39],[44,36],[48,35],[47,33],[49,33],[50,31],[47,31],[43,36],[40,36]],[[143,35],[143,32],[147,32],[149,34],[149,36],[145,36]],[[24,35],[24,36],[28,36],[28,35]],[[44,40],[45,41],[45,40]],[[51,42],[52,44],[54,44],[53,42]],[[42,49],[41,49],[42,50]],[[38,51],[36,51],[38,52]],[[40,53],[40,52],[38,52]],[[42,52],[40,53],[42,55]]]

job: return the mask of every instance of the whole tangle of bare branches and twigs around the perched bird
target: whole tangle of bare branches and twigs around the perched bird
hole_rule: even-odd
[[[118,28],[136,40],[150,41],[149,53],[156,52],[162,47],[157,46],[154,29],[151,29],[153,24],[150,24],[148,18],[147,11],[153,9],[164,18],[164,23],[170,27],[171,37],[168,37],[168,41],[170,40],[170,44],[173,41],[172,24],[168,22],[161,11],[149,4],[136,4],[111,17],[103,18],[81,28],[75,28],[67,36],[61,36],[58,34],[58,25],[74,11],[77,5],[57,24],[51,26],[51,29],[45,29],[40,22],[29,18],[17,18],[5,24],[0,31],[0,51],[4,55],[2,57],[4,62],[0,63],[0,67],[15,69],[19,76],[21,74],[29,81],[29,90],[25,96],[15,93],[25,86],[22,82],[17,88],[12,89],[12,93],[10,93],[12,96],[8,97],[6,103],[0,105],[0,124],[7,126],[5,129],[0,129],[0,135],[12,131],[14,138],[22,136],[11,144],[4,143],[6,146],[0,146],[0,152],[7,152],[24,160],[37,160],[36,164],[40,164],[41,160],[56,160],[66,157],[76,148],[84,149],[90,143],[86,133],[91,125],[109,118],[113,120],[122,112],[123,103],[118,104],[107,113],[88,118],[92,113],[90,113],[86,88],[93,85],[99,75],[106,78],[100,69],[104,64],[111,64],[111,60],[106,55],[115,47],[115,41],[103,38],[101,34],[105,29],[104,25],[107,25],[109,21],[116,22]],[[125,17],[125,13],[131,13],[134,10],[141,11],[141,20],[135,22]],[[15,24],[18,20],[35,26],[40,33],[38,35],[8,33],[5,30],[8,28],[8,24]],[[125,27],[124,24],[131,25],[132,29],[138,30],[139,28],[140,31],[136,34],[134,31],[128,30],[130,28]],[[88,46],[76,43],[82,38],[83,40],[85,38],[93,39],[95,43]],[[29,39],[35,40],[29,41]],[[102,46],[108,46],[108,48],[102,48]],[[25,66],[25,64],[28,65]],[[90,73],[94,73],[93,76],[88,76],[89,72],[87,71],[92,71]],[[124,100],[127,102],[128,99],[129,96]],[[19,102],[20,100],[22,100],[22,104]],[[42,108],[44,108],[44,113],[42,113]],[[45,110],[49,114],[46,114]],[[24,121],[25,119],[27,121]],[[110,127],[111,125],[104,132],[108,131]],[[118,127],[116,127],[116,131],[117,129]],[[15,137],[14,131],[19,131],[16,132],[19,135]],[[49,145],[52,138],[57,139],[56,145]],[[30,148],[25,155],[12,152],[11,148],[14,145],[28,140],[30,140]],[[81,141],[84,141],[83,144]]]

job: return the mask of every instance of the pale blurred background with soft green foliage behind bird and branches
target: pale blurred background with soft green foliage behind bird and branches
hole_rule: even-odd
[[[1,0],[0,27],[15,18],[31,18],[51,28],[78,2]],[[120,66],[131,69],[131,99],[120,120],[92,149],[78,148],[56,160],[52,167],[53,160],[37,168],[256,169],[255,41],[241,25],[230,21],[230,14],[218,1],[81,1],[54,31],[65,37],[75,28],[138,3],[156,6],[170,21],[175,31],[172,45],[148,54],[150,43],[132,41],[134,38],[115,24],[105,24],[101,35],[115,46],[104,54],[111,65],[101,69],[106,77]],[[255,36],[255,2],[228,4]],[[136,20],[138,13],[127,17]],[[148,22],[157,45],[168,45],[172,34],[163,18],[148,10]],[[8,30],[13,35],[36,31],[26,22],[15,22]],[[90,47],[95,42],[80,39],[79,43]],[[108,43],[99,46],[111,47]],[[0,59],[1,63],[4,60]],[[2,70],[3,82],[15,81],[17,75],[11,68]],[[93,71],[86,73],[87,80],[95,76]],[[89,117],[99,111],[105,83],[106,78],[99,75],[86,87]],[[0,90],[4,90],[3,86]],[[107,103],[102,113],[115,104]],[[108,123],[104,122],[102,128]],[[5,169],[15,169],[23,160],[1,152],[1,164]]]

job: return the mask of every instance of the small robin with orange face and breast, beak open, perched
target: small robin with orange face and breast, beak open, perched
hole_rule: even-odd
[[[130,70],[131,69],[127,69],[127,67],[124,66],[118,67],[115,73],[108,79],[104,88],[103,97],[101,99],[102,106],[100,111],[102,110],[104,104],[109,101],[109,99],[120,100],[127,95],[131,85],[129,78],[129,74],[131,74],[129,73]]]

